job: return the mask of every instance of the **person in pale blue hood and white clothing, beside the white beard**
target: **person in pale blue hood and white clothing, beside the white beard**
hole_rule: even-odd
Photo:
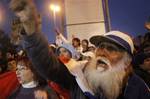
[[[62,44],[62,46],[57,49],[57,54],[61,62],[63,62],[69,70],[70,74],[76,77],[77,83],[82,87],[81,89],[83,91],[89,90],[92,93],[82,72],[87,63],[87,59],[84,61],[77,61],[78,52],[70,44]]]

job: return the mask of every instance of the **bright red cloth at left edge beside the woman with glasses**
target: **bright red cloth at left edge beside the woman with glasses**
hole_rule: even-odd
[[[0,99],[7,97],[17,88],[19,82],[15,72],[6,72],[0,75]]]

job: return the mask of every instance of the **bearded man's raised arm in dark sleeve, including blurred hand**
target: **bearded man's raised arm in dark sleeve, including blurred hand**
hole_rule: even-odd
[[[74,77],[57,59],[53,51],[48,49],[48,41],[38,26],[37,12],[33,2],[31,0],[12,0],[11,9],[23,24],[23,47],[36,70],[45,79],[69,89],[69,85],[74,82]]]

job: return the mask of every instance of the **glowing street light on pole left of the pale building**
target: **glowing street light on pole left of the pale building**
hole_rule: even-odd
[[[56,28],[56,12],[60,11],[60,6],[56,4],[51,4],[49,9],[53,11],[54,27]]]

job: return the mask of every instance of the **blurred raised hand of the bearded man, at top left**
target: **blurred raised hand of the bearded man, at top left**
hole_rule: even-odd
[[[39,16],[32,0],[11,0],[10,8],[19,17],[27,35],[40,31]]]

